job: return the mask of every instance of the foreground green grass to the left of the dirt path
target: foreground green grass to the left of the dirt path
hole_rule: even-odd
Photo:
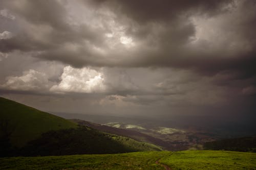
[[[162,170],[155,162],[171,152],[0,158],[0,169],[145,169]]]

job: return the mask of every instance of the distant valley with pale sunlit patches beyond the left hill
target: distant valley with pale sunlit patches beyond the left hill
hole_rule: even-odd
[[[133,138],[135,140],[150,142],[159,145],[164,150],[182,151],[187,149],[203,149],[205,142],[214,141],[220,138],[219,135],[197,131],[183,130],[167,127],[157,127],[152,124],[127,124],[127,123],[106,123],[96,124],[80,119],[72,119],[74,122],[98,129],[101,131],[114,133],[121,136]]]

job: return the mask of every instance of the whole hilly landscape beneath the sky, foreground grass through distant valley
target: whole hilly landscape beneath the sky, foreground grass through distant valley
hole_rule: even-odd
[[[4,98],[0,107],[0,169],[256,169],[255,138],[64,119]]]

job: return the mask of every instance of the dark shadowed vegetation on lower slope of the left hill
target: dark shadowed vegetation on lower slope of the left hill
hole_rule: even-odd
[[[29,142],[20,153],[26,156],[110,154],[161,151],[156,145],[103,133],[81,126],[77,129],[49,131]]]

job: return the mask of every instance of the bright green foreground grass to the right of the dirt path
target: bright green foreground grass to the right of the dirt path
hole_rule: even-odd
[[[256,154],[231,151],[181,151],[161,159],[175,169],[256,169]]]

